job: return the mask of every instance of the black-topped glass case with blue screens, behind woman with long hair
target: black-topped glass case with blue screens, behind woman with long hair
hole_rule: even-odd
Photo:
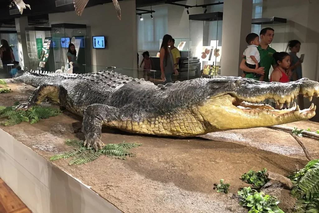
[[[92,72],[85,69],[86,61],[91,61],[91,44],[87,37],[86,25],[83,24],[52,24],[53,47],[55,69],[61,69],[61,64],[65,69],[70,68],[67,52],[69,44],[73,43],[77,52],[77,68],[73,69],[73,73]]]

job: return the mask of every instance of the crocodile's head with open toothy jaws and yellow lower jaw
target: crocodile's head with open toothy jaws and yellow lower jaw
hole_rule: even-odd
[[[208,87],[208,88],[207,88]],[[306,120],[315,116],[316,107],[300,110],[293,102],[298,94],[319,96],[319,83],[307,78],[289,83],[260,82],[246,78],[220,77],[207,83],[208,98],[198,108],[203,119],[215,131],[266,127]],[[273,100],[280,106],[258,104]],[[282,109],[283,105],[292,108]]]

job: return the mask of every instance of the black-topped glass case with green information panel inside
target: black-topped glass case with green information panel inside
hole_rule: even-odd
[[[52,72],[55,68],[54,55],[50,54],[50,50],[55,43],[52,41],[51,27],[26,27],[25,29],[29,56],[28,69]],[[50,41],[49,49],[47,49],[48,41]],[[40,62],[44,62],[45,66],[43,67],[43,63]]]

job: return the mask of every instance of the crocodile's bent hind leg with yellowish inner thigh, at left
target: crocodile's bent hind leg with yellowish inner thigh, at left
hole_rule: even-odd
[[[66,101],[66,89],[58,84],[42,84],[37,87],[26,103],[19,104],[16,110],[27,110],[34,105],[39,105],[45,98],[50,98],[53,102],[63,104]]]

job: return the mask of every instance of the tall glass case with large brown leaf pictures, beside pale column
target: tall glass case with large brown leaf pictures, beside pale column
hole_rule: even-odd
[[[222,25],[222,12],[189,15],[188,79],[220,75]]]

